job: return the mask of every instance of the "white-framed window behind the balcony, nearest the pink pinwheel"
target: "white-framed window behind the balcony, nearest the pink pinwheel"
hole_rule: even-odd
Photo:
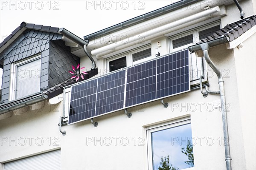
[[[115,71],[120,68],[125,68],[134,64],[145,62],[152,59],[151,55],[151,45],[145,45],[134,49],[132,51],[127,51],[121,55],[113,56],[106,60],[107,70]]]

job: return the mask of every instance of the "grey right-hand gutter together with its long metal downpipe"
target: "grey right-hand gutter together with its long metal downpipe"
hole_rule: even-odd
[[[202,49],[204,51],[204,57],[206,62],[218,76],[218,84],[219,84],[220,95],[221,95],[221,113],[222,113],[222,124],[223,124],[223,133],[224,133],[226,167],[227,167],[227,170],[232,170],[228,126],[227,126],[227,110],[226,110],[226,99],[225,99],[225,91],[224,91],[224,80],[221,75],[221,72],[210,59],[209,52],[208,52],[210,46],[219,45],[226,42],[228,42],[227,37],[221,37],[220,39],[215,39],[210,42],[204,42],[195,46],[191,46],[189,47],[189,50],[192,52],[195,52]],[[218,94],[218,93],[216,92],[215,94]]]

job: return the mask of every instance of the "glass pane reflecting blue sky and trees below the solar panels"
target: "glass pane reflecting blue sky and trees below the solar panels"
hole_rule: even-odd
[[[153,132],[151,140],[154,170],[168,165],[170,170],[194,167],[190,123]]]

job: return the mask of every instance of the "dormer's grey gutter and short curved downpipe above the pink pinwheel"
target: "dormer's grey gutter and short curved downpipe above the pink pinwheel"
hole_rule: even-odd
[[[91,62],[93,64],[93,67],[91,68],[91,70],[94,70],[96,68],[96,63],[95,63],[93,57],[91,57],[91,55],[86,50],[86,46],[88,45],[88,42],[79,38],[78,36],[76,36],[75,34],[73,34],[70,31],[66,30],[65,28],[59,28],[59,33],[63,34],[68,39],[78,43],[79,45],[81,45],[83,47],[84,53],[89,57],[89,59],[91,60]]]

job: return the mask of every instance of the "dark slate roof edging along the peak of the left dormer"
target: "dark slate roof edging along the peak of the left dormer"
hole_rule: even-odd
[[[0,43],[0,48],[3,45],[5,45],[10,39],[12,39],[12,37],[14,37],[15,34],[17,34],[17,32],[20,31],[22,28],[34,29],[39,31],[47,31],[47,32],[53,32],[53,33],[58,33],[58,30],[59,30],[59,28],[57,27],[43,26],[43,25],[22,22],[20,26],[18,26],[14,31],[12,31],[12,34],[10,34],[8,37],[6,37],[6,39],[3,40],[3,42]]]

